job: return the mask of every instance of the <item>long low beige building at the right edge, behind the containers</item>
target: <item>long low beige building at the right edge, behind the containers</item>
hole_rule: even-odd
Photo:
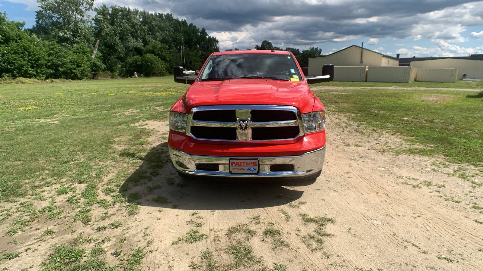
[[[457,68],[457,79],[462,79],[463,74],[471,79],[483,79],[483,60],[476,59],[431,59],[411,61],[411,66],[416,68]]]

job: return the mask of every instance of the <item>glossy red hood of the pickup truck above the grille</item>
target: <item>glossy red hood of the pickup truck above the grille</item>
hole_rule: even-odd
[[[284,105],[311,112],[315,95],[305,81],[232,79],[195,82],[180,103],[180,112],[206,105]]]

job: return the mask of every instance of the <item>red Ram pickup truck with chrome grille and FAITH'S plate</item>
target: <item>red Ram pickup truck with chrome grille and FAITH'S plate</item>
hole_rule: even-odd
[[[174,81],[191,84],[170,109],[168,145],[182,177],[313,179],[325,158],[324,106],[286,51],[211,54],[197,78],[174,67]]]

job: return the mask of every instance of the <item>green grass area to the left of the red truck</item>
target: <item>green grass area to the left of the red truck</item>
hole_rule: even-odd
[[[0,199],[62,180],[99,179],[104,163],[123,158],[113,147],[119,137],[127,138],[126,151],[144,156],[147,151],[136,146],[147,143],[142,136],[149,131],[131,124],[167,120],[186,88],[170,76],[0,84]],[[139,111],[125,114],[129,109]]]

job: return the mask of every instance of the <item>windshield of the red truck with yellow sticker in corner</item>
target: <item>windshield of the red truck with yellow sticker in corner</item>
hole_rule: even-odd
[[[287,54],[212,55],[201,71],[201,81],[261,78],[300,81],[297,64]]]

